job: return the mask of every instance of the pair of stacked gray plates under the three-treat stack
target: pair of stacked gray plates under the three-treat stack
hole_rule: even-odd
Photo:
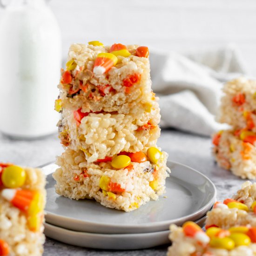
[[[57,195],[51,164],[47,174],[45,234],[55,240],[95,249],[144,249],[169,243],[169,225],[195,221],[203,226],[216,200],[214,184],[200,172],[168,161],[167,193],[132,212],[105,208],[93,200]]]

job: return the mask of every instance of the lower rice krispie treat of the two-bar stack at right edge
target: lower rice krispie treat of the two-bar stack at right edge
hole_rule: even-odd
[[[218,165],[243,179],[256,178],[256,134],[246,129],[220,131],[213,136]]]

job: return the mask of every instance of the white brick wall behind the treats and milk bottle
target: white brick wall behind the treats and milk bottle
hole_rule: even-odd
[[[89,40],[180,52],[235,43],[256,74],[255,0],[51,0],[50,6],[64,56],[70,43]]]

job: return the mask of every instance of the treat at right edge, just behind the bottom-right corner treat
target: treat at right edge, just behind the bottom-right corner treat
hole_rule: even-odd
[[[256,227],[256,183],[244,182],[232,199],[216,202],[207,213],[206,228],[229,229],[237,225]]]

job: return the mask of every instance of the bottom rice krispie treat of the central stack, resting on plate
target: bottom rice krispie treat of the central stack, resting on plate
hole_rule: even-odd
[[[147,155],[146,155],[147,152]],[[84,153],[67,149],[57,158],[56,192],[72,199],[94,198],[102,205],[132,211],[165,192],[167,153],[148,148],[88,163]]]

